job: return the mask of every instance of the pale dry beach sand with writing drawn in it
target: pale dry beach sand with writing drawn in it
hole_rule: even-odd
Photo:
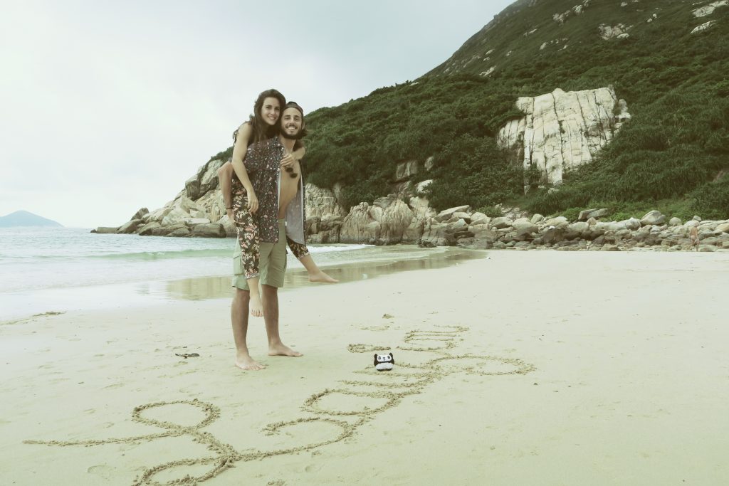
[[[729,253],[488,257],[282,292],[261,372],[229,299],[1,325],[1,484],[729,482]]]

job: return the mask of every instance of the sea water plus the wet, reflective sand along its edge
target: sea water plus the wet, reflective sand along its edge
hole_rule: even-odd
[[[230,296],[235,238],[98,235],[87,229],[0,228],[0,324],[44,312],[119,307],[149,299]],[[347,281],[456,264],[477,252],[416,246],[309,245]],[[310,285],[288,256],[286,289]]]

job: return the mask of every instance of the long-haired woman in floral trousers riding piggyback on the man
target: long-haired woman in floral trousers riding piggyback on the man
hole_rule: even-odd
[[[218,171],[227,216],[230,221],[235,223],[235,229],[238,232],[238,246],[240,248],[237,248],[236,251],[240,250],[243,272],[249,281],[251,315],[256,317],[263,315],[263,306],[258,290],[260,246],[255,217],[259,203],[257,194],[246,172],[246,167],[243,164],[243,158],[246,157],[246,149],[249,145],[278,136],[278,119],[281,114],[281,106],[285,104],[286,98],[277,90],[266,90],[260,93],[254,103],[254,114],[233,133],[232,162],[226,162]],[[286,171],[292,171],[292,166],[295,163],[298,164],[305,154],[305,149],[300,141],[296,141],[295,148],[295,152],[286,154],[281,159],[281,167]],[[237,213],[233,212],[232,199],[234,197],[242,197],[245,200],[243,205],[238,206],[239,211]],[[303,241],[295,243],[293,240],[289,240],[289,248],[305,267],[310,281],[337,282],[335,278],[319,269]]]

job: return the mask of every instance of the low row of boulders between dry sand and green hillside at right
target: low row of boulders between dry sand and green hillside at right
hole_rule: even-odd
[[[472,213],[468,206],[451,208],[434,216],[424,233],[423,246],[457,244],[471,248],[553,248],[558,250],[625,251],[634,248],[679,251],[693,248],[690,230],[698,231],[698,251],[729,249],[729,220],[702,221],[699,216],[687,222],[650,211],[641,219],[601,222],[607,209],[582,211],[577,222],[564,216],[529,217],[518,208],[507,216],[490,218]]]

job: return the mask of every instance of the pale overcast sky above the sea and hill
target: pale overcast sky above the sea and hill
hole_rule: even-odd
[[[416,79],[510,0],[0,0],[0,216],[118,226],[231,144],[258,93],[305,111]]]

